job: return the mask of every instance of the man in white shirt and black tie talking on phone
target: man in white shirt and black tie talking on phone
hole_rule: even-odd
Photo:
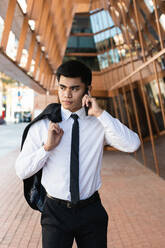
[[[16,173],[25,179],[42,169],[43,248],[71,248],[74,238],[79,248],[106,248],[108,215],[98,193],[103,147],[134,152],[140,141],[90,96],[88,67],[71,60],[56,75],[62,121],[30,127]]]

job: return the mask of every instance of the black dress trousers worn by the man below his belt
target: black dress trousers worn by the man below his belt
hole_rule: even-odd
[[[41,215],[42,247],[107,248],[108,215],[101,200],[87,206],[67,208],[46,198]]]

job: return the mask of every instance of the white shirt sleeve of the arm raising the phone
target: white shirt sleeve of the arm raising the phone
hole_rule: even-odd
[[[105,144],[123,152],[134,152],[140,146],[137,133],[130,130],[105,110],[97,117],[104,127]]]

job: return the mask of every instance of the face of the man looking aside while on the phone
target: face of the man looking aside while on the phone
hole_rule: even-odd
[[[64,109],[76,112],[82,107],[82,97],[85,92],[85,84],[81,78],[69,78],[60,76],[58,82],[58,96]]]

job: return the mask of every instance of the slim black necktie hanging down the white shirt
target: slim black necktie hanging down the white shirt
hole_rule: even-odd
[[[71,202],[77,203],[79,196],[79,123],[78,115],[72,114],[74,119],[72,126],[71,160],[70,160],[70,192]]]

